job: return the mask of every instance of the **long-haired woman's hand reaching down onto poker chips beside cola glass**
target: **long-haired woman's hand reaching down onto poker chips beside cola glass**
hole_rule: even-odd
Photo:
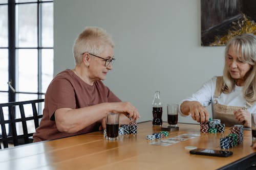
[[[205,123],[209,120],[209,113],[199,102],[191,102],[189,105],[191,117],[199,123]]]

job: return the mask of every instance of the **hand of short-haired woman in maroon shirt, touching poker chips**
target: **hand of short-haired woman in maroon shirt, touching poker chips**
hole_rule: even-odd
[[[136,121],[140,118],[140,114],[135,106],[133,106],[130,102],[116,102],[110,103],[112,112],[123,113],[127,117]]]

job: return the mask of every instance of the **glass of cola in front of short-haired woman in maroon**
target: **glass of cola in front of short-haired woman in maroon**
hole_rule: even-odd
[[[106,114],[106,139],[118,140],[119,113]]]

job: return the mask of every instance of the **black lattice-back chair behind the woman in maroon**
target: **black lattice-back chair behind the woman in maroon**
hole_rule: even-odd
[[[38,99],[0,104],[0,125],[2,130],[2,134],[0,132],[0,149],[2,149],[1,143],[3,143],[4,148],[8,148],[9,143],[17,146],[33,142],[32,136],[39,126],[39,120],[42,118],[44,101],[44,99]],[[38,113],[38,110],[40,113]],[[29,128],[27,124],[30,125]],[[20,134],[21,129],[23,134]]]

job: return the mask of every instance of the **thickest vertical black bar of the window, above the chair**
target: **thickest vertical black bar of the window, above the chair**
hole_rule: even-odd
[[[15,88],[15,2],[14,0],[8,0],[8,34],[9,34],[9,81]],[[15,102],[15,93],[9,87],[9,102]]]

